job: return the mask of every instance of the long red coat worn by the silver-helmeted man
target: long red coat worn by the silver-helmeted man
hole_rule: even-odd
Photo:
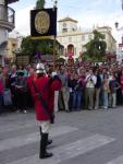
[[[38,92],[41,94],[44,101],[47,103],[48,112],[53,112],[54,91],[61,89],[61,81],[56,79],[49,84],[50,79],[48,77],[40,77],[35,80],[35,85]],[[37,97],[36,91],[32,84],[30,92],[35,102],[36,119],[37,120],[50,120],[49,113],[46,112],[41,101]]]

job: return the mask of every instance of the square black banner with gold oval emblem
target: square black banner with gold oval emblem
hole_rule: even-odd
[[[57,36],[57,8],[30,11],[30,36]]]

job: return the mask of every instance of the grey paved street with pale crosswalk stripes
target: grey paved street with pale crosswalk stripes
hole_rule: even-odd
[[[35,114],[0,116],[0,164],[123,164],[123,107],[57,114],[53,157],[39,160]]]

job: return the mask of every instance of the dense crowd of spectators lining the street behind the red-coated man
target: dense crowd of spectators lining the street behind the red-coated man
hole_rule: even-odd
[[[83,62],[69,67],[46,65],[46,75],[56,72],[62,81],[61,91],[54,94],[56,110],[115,108],[123,103],[123,66]],[[35,78],[35,67],[0,67],[0,110],[4,110],[4,91],[11,92],[11,110],[23,112],[34,106],[28,80]]]

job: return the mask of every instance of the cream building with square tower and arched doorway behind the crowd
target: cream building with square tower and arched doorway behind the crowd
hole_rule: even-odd
[[[71,17],[64,17],[59,20],[59,32],[57,39],[64,46],[65,56],[79,57],[86,49],[86,45],[91,38],[94,38],[93,31],[97,30],[104,36],[107,43],[107,52],[116,51],[116,42],[112,36],[111,27],[96,27],[93,30],[83,31],[77,27],[77,21]]]

